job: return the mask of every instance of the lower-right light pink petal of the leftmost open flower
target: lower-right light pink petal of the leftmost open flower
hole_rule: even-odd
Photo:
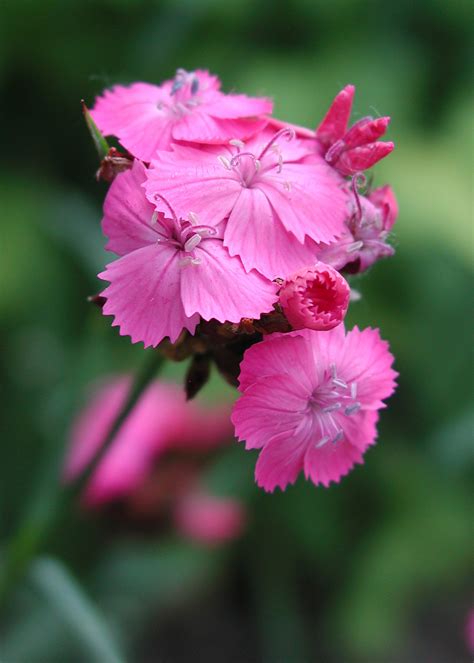
[[[187,316],[239,322],[272,310],[277,286],[255,271],[246,273],[240,258],[229,256],[219,240],[207,239],[195,249],[201,260],[181,273],[181,298]]]

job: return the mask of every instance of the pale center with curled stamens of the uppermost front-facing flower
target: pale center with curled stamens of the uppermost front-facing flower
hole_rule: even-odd
[[[263,147],[258,155],[250,151],[241,151],[245,148],[243,141],[231,140],[230,144],[237,148],[237,154],[231,159],[219,156],[218,160],[224,168],[233,170],[236,173],[243,187],[246,189],[251,188],[269,170],[277,168],[277,172],[281,173],[284,163],[283,154],[276,141],[282,137],[291,140],[295,137],[295,132],[290,127],[281,129]],[[290,188],[289,183],[287,188]]]

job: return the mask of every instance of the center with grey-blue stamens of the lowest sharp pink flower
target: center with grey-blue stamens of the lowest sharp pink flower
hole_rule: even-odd
[[[320,439],[316,449],[328,442],[337,444],[344,438],[344,431],[338,423],[338,412],[346,417],[356,414],[361,409],[357,400],[357,382],[347,383],[337,375],[336,365],[331,364],[325,381],[319,385],[308,399],[308,409],[320,430]]]

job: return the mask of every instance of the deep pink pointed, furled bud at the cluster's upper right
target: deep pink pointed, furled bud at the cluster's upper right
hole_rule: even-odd
[[[393,150],[392,142],[383,136],[389,117],[364,117],[347,129],[355,87],[347,85],[336,96],[325,118],[316,129],[326,161],[342,175],[354,175],[373,166]]]

